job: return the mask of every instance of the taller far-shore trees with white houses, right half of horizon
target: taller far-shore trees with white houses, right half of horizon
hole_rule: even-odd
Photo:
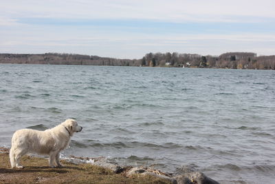
[[[179,54],[177,52],[148,53],[142,58],[145,66],[190,68],[231,68],[275,70],[275,56],[257,57],[253,52],[228,52],[220,56]]]

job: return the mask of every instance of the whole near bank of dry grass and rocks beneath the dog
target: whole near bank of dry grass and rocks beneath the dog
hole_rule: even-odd
[[[190,167],[181,167],[175,173],[155,170],[153,167],[120,166],[104,157],[63,159],[64,167],[48,167],[47,159],[25,156],[25,169],[10,169],[9,150],[0,147],[0,183],[173,183],[218,184],[212,178]],[[32,174],[32,176],[30,176]],[[50,175],[49,175],[50,174]],[[14,177],[14,176],[17,177]],[[72,178],[72,176],[76,175]],[[24,181],[24,182],[23,182]]]

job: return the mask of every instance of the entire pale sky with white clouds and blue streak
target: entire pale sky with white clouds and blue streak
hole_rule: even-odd
[[[1,0],[0,53],[275,54],[274,0]]]

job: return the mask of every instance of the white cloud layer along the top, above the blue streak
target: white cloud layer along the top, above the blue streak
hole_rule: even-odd
[[[151,19],[160,21],[254,21],[274,19],[273,0],[14,0],[1,14],[61,19]],[[240,19],[240,17],[242,17]]]

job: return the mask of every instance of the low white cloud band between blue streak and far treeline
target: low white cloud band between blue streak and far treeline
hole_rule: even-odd
[[[62,31],[61,31],[62,33]],[[60,33],[60,34],[61,34]],[[0,34],[3,34],[0,32]],[[274,54],[275,34],[84,34],[71,37],[71,33],[58,35],[40,32],[33,37],[13,37],[5,34],[0,39],[0,51],[16,53],[78,53],[95,54],[102,57],[140,59],[148,52],[179,52],[219,55],[223,52],[256,52]]]

